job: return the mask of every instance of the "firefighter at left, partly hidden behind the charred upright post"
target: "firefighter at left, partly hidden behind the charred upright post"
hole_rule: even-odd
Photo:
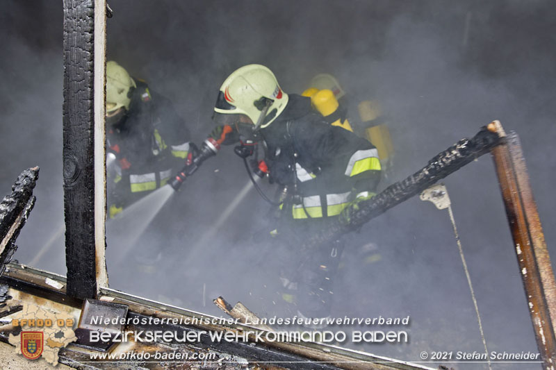
[[[188,129],[172,103],[106,63],[108,215],[165,185],[188,156]]]

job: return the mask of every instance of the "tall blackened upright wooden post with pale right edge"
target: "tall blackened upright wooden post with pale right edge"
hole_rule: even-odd
[[[100,103],[99,95],[103,96],[104,107],[104,92],[95,94],[95,72],[102,71],[100,73],[104,84],[104,49],[101,50],[103,60],[95,58],[95,8],[99,8],[98,2],[63,1],[63,176],[67,294],[76,298],[96,297],[97,268],[104,269],[104,259],[97,261],[97,249],[102,249],[104,255],[104,218],[99,220],[97,217],[95,222],[95,213],[106,212],[105,201],[95,208],[95,199],[99,199],[98,195],[95,198],[95,184],[104,184],[104,169],[97,169],[95,174],[95,154],[104,153],[104,131],[95,136],[95,127],[100,126],[99,112],[95,112]],[[97,11],[104,12],[105,9]],[[104,115],[104,111],[101,114]],[[104,127],[104,123],[102,126]],[[95,151],[95,137],[101,140],[97,142],[103,148],[101,151]],[[104,161],[104,155],[102,160]],[[97,176],[102,179],[99,181]],[[104,194],[106,190],[98,191]],[[97,239],[97,234],[100,233],[103,234],[101,245]]]

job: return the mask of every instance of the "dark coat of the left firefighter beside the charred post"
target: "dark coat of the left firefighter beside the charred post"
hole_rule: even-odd
[[[188,129],[172,103],[147,83],[136,85],[126,116],[106,128],[107,151],[117,158],[108,196],[118,207],[165,185],[189,152]]]

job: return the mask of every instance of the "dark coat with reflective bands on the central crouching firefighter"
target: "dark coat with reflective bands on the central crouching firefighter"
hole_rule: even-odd
[[[290,94],[284,111],[261,135],[272,180],[297,192],[294,219],[339,215],[355,196],[374,192],[379,183],[373,144],[328,124],[309,98]]]

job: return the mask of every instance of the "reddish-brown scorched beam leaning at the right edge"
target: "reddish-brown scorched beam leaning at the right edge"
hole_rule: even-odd
[[[493,159],[543,369],[555,369],[556,337],[553,319],[556,283],[537,205],[532,197],[521,144],[515,133],[508,135],[505,145],[493,150]]]

